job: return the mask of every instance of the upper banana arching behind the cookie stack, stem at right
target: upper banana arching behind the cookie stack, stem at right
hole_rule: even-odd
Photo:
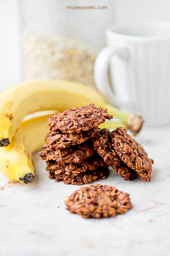
[[[0,93],[0,146],[8,146],[22,119],[41,110],[66,110],[94,103],[126,123],[131,131],[139,131],[141,117],[124,113],[105,101],[97,90],[65,80],[27,81]]]

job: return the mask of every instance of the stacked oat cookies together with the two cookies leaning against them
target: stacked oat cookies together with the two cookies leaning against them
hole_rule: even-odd
[[[111,166],[125,180],[138,174],[150,181],[153,160],[127,130],[99,129],[112,116],[90,104],[70,108],[48,118],[47,144],[39,155],[46,160],[50,178],[65,184],[82,185],[109,175]]]

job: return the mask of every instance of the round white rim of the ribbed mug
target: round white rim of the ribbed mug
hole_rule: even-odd
[[[123,34],[116,32],[114,30],[120,29],[120,28],[129,28],[133,26],[167,26],[169,28],[169,35],[158,35],[158,36],[138,36],[138,35],[130,35],[130,34]],[[127,22],[127,23],[118,23],[118,24],[113,24],[109,26],[106,29],[106,33],[110,33],[112,35],[116,35],[117,37],[120,37],[122,39],[128,39],[128,40],[143,40],[143,41],[149,41],[149,40],[165,40],[165,39],[170,39],[170,22],[166,21],[136,21],[136,22]]]

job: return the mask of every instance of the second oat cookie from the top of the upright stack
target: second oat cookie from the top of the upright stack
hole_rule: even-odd
[[[62,149],[72,145],[81,144],[90,138],[93,138],[98,131],[98,127],[80,133],[62,133],[58,131],[49,131],[45,137],[46,142],[53,148]]]

